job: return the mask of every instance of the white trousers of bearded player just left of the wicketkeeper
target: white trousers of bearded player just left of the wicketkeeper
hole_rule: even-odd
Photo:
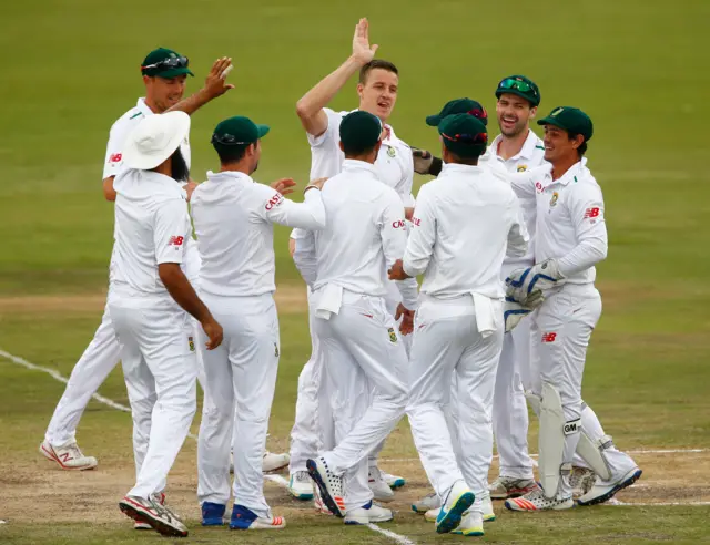
[[[529,380],[530,322],[526,317],[503,337],[493,398],[493,431],[500,456],[499,474],[534,479],[528,453],[528,405],[524,383]]]

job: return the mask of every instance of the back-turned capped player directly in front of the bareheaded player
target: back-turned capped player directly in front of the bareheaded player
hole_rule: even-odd
[[[323,191],[327,225],[314,234],[314,254],[300,253],[303,239],[296,239],[294,255],[302,274],[313,270],[306,268],[308,263],[316,263],[308,284],[316,298],[314,321],[335,421],[335,448],[306,466],[327,507],[345,516],[346,524],[393,517],[392,511],[372,502],[367,456],[402,418],[407,399],[399,378],[407,356],[384,299],[386,267],[404,253],[406,243],[404,206],[377,178],[374,163],[381,135],[382,122],[368,112],[343,119],[343,172]],[[415,307],[416,290],[398,286],[403,313]]]

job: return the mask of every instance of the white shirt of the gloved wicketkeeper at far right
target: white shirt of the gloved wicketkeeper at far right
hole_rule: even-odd
[[[535,259],[557,259],[568,284],[591,284],[597,275],[595,264],[605,259],[608,250],[601,188],[586,160],[556,181],[551,169],[545,165],[511,175],[517,191],[537,200]]]

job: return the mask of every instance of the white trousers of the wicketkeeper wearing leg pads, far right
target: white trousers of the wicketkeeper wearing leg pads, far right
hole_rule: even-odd
[[[594,410],[581,399],[581,380],[591,332],[601,316],[601,296],[592,284],[566,284],[554,294],[546,294],[542,306],[532,315],[530,389],[536,395],[542,381],[551,383],[560,394],[565,420],[581,419],[581,429],[592,440],[604,435]],[[588,467],[575,453],[579,433],[565,436],[562,463]],[[633,460],[612,446],[604,452],[611,469],[612,481],[636,466]],[[560,496],[571,495],[567,479],[560,479]]]

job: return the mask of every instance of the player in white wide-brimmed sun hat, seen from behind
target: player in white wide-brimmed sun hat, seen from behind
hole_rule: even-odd
[[[162,491],[196,409],[190,316],[206,333],[207,348],[222,342],[222,327],[181,268],[192,235],[186,193],[179,184],[189,176],[180,152],[189,131],[190,116],[170,112],[149,115],[128,135],[126,168],[113,182],[115,241],[109,290],[133,435],[149,438],[135,486],[119,506],[136,522],[180,537],[187,528],[163,505]]]

